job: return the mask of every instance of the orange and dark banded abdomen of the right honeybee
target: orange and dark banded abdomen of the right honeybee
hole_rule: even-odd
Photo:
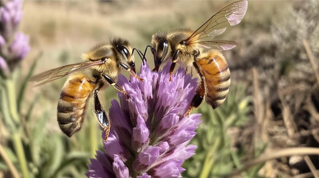
[[[197,65],[205,77],[206,102],[215,109],[226,99],[230,72],[225,57],[219,51],[211,50],[204,55],[205,57],[198,59]]]

